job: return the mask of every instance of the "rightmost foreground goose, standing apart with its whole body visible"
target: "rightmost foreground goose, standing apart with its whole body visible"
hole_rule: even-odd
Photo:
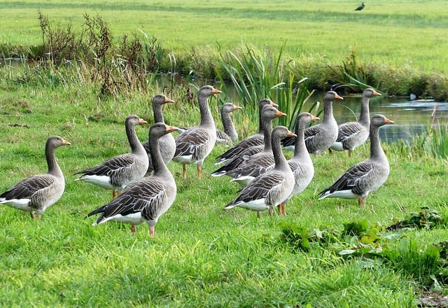
[[[328,197],[358,199],[361,207],[365,198],[377,190],[389,175],[389,163],[379,141],[379,127],[393,123],[385,116],[377,114],[370,121],[370,158],[350,167],[332,186],[318,195],[318,200]]]

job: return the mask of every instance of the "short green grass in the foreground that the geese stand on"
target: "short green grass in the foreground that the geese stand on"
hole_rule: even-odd
[[[178,104],[181,97],[181,91],[172,95]],[[94,218],[85,215],[109,202],[111,192],[74,181],[72,174],[129,151],[123,121],[128,113],[151,121],[146,100],[134,94],[98,102],[94,91],[80,86],[1,90],[0,190],[45,171],[43,144],[48,135],[59,134],[72,143],[56,152],[66,176],[66,192],[41,221],[8,207],[0,209],[2,306],[416,307],[422,290],[433,286],[428,274],[440,277],[438,263],[436,269],[428,263],[423,270],[429,261],[421,252],[446,239],[440,227],[398,232],[416,247],[401,248],[405,251],[398,256],[393,251],[400,241],[381,239],[379,244],[395,262],[345,259],[338,253],[341,248],[332,245],[296,251],[281,241],[283,221],[342,232],[344,223],[353,221],[391,225],[423,205],[446,219],[444,162],[429,155],[400,158],[389,146],[391,175],[367,198],[365,208],[356,201],[317,202],[315,196],[347,167],[364,159],[367,145],[353,158],[346,153],[314,157],[314,181],[288,204],[286,218],[266,213],[257,218],[244,209],[223,209],[238,188],[228,179],[209,175],[215,169],[213,158],[225,150],[218,146],[204,164],[202,180],[196,179],[193,166],[183,181],[181,165],[169,165],[178,196],[156,225],[155,237],[149,237],[145,225],[138,227],[135,236],[129,225],[92,226]],[[216,102],[211,101],[215,116]],[[165,115],[171,125],[199,119],[197,107],[188,104],[167,106]],[[256,130],[255,123],[242,121],[237,122],[241,134],[244,129],[246,134]],[[137,127],[141,140],[147,133],[148,127]],[[391,233],[382,231],[381,237]],[[447,293],[440,284],[442,293]]]

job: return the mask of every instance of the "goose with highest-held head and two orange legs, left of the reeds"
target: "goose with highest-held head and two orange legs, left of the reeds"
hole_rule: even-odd
[[[209,97],[221,93],[211,85],[204,85],[197,94],[201,122],[197,127],[179,134],[176,138],[176,153],[173,160],[183,165],[183,179],[187,176],[187,165],[197,165],[197,177],[201,178],[201,168],[204,159],[211,153],[216,143],[215,121],[209,108]]]

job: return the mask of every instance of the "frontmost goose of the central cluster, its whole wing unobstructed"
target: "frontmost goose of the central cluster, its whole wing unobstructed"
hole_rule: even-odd
[[[280,141],[285,137],[295,137],[295,134],[284,126],[274,128],[271,139],[275,167],[253,179],[225,209],[242,207],[258,214],[269,210],[272,214],[272,209],[288,198],[294,188],[294,175],[281,152]]]

